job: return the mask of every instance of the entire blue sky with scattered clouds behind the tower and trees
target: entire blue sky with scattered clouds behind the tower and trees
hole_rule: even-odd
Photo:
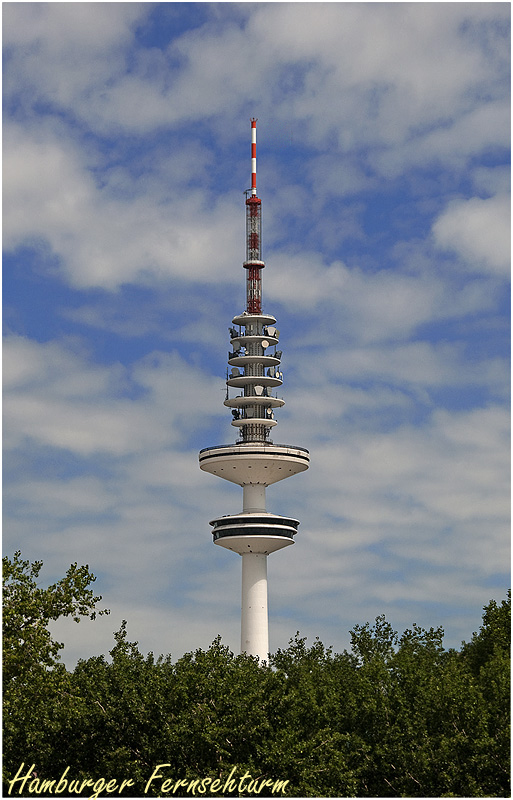
[[[509,3],[3,3],[4,553],[88,564],[113,632],[240,641],[228,328],[250,118],[283,351],[270,648],[385,614],[468,641],[510,585]]]

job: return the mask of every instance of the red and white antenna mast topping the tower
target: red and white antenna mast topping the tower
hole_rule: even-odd
[[[246,311],[262,313],[262,201],[256,193],[256,119],[251,120],[251,194],[246,197]],[[249,191],[249,190],[248,190]]]

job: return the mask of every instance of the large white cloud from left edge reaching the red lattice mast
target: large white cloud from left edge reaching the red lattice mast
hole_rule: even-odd
[[[119,175],[112,190],[98,187],[84,153],[58,133],[7,125],[4,134],[4,246],[48,242],[75,287],[115,289],[131,282],[175,277],[205,282],[231,278],[243,228],[232,199],[204,192],[159,195]],[[194,153],[186,150],[186,157]],[[170,186],[167,186],[169,192]],[[221,247],[213,247],[215,241]],[[239,260],[239,259],[237,259]]]

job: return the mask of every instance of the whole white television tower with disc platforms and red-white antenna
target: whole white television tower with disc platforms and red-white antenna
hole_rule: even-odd
[[[294,544],[299,520],[266,510],[265,490],[272,483],[308,469],[303,447],[274,444],[274,411],[284,405],[273,391],[282,384],[276,319],[262,311],[262,202],[256,193],[256,119],[251,120],[251,189],[246,192],[246,310],[232,319],[231,372],[225,406],[239,430],[235,444],[200,451],[205,472],[242,486],[242,512],[213,519],[214,544],[242,556],[241,652],[263,661],[269,653],[267,556]],[[230,389],[236,394],[230,397]]]

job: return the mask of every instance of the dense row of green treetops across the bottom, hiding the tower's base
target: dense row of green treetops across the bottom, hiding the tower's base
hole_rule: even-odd
[[[75,778],[131,778],[124,797],[192,796],[163,780],[226,781],[234,768],[237,781],[287,780],[287,796],[506,797],[509,608],[492,601],[459,652],[441,628],[398,636],[380,616],[355,626],[352,652],[297,634],[264,666],[219,638],[176,663],[144,656],[123,623],[110,659],[26,673],[44,702],[28,715],[20,694],[11,701],[6,771],[25,761],[46,776],[71,765]],[[218,796],[230,794],[248,793]]]

